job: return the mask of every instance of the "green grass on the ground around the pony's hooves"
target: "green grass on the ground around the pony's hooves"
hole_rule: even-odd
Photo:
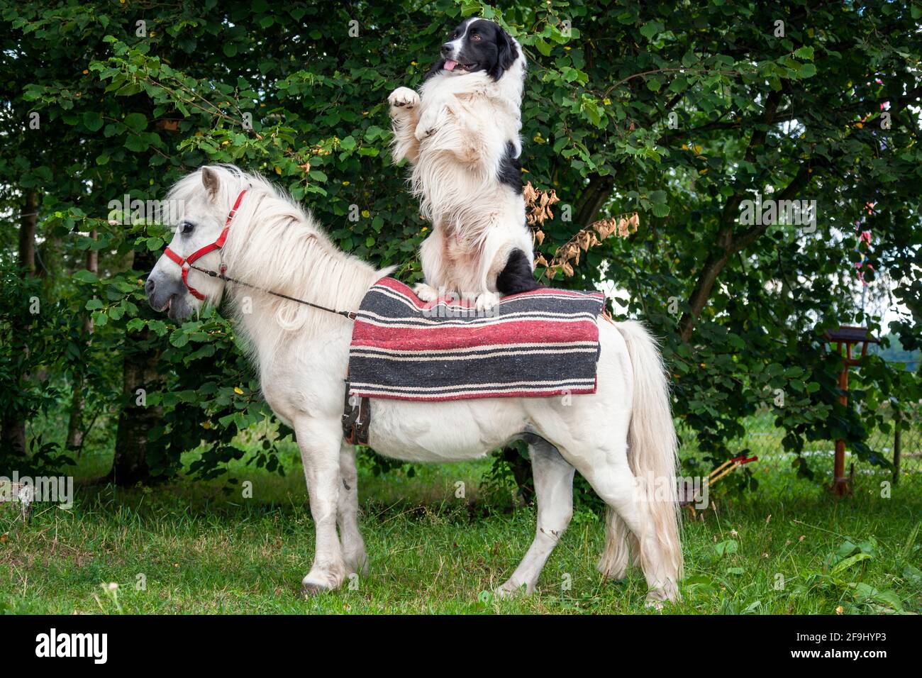
[[[84,470],[94,465],[81,459]],[[488,460],[413,478],[361,470],[369,574],[356,589],[301,600],[313,521],[294,450],[285,466],[284,478],[231,467],[254,483],[253,499],[225,494],[223,482],[181,480],[130,491],[81,484],[71,511],[36,506],[28,524],[0,508],[0,612],[652,613],[639,571],[600,580],[603,529],[588,511],[577,512],[535,595],[482,596],[512,574],[535,529],[532,507],[483,508]],[[758,492],[717,486],[712,508],[686,520],[684,599],[663,613],[922,611],[918,474],[890,498],[881,497],[887,476],[858,474],[854,496],[835,500],[796,479],[782,455],[762,458],[755,473]],[[455,498],[457,481],[467,499]]]

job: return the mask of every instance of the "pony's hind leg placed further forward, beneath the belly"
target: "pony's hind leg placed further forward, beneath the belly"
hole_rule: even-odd
[[[535,589],[541,569],[573,517],[573,467],[546,440],[529,445],[528,454],[535,478],[538,530],[513,576],[497,589],[500,596],[514,594],[523,587],[526,594]]]

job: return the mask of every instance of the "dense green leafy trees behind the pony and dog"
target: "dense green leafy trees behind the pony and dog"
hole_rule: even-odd
[[[917,378],[870,356],[844,408],[818,338],[840,323],[881,330],[855,302],[863,253],[913,311],[892,331],[905,348],[918,344],[918,6],[257,0],[151,14],[130,3],[2,4],[10,94],[0,134],[15,143],[0,148],[0,199],[11,206],[30,187],[42,196],[36,228],[58,234],[64,259],[50,293],[77,315],[74,327],[87,314],[94,323],[91,346],[71,339],[77,348],[52,366],[99,366],[85,383],[121,422],[119,448],[156,442],[145,454],[157,476],[205,440],[197,469],[210,473],[242,454],[233,434],[267,412],[242,359],[217,358],[239,355],[231,323],[216,314],[173,327],[145,309],[137,281],[147,264],[133,257],[159,251],[167,234],[109,223],[109,202],[157,199],[184,172],[234,162],[273,175],[344,249],[418,280],[427,224],[406,168],[390,161],[385,99],[418,85],[446,27],[475,14],[512,31],[529,61],[524,178],[561,196],[542,254],[594,220],[639,211],[637,233],[590,249],[573,278],[555,282],[609,281],[624,313],[663,338],[675,412],[703,450],[726,458],[744,418],[768,406],[788,449],[844,436],[871,458],[874,411],[857,404],[895,387],[917,398]],[[53,135],[25,136],[32,112]],[[750,202],[786,200],[815,200],[815,220],[800,219],[809,209],[797,220],[743,218]],[[88,251],[99,252],[98,275],[85,270]],[[148,392],[161,418],[129,416],[126,355],[159,356],[137,374],[164,375]],[[198,398],[184,395],[203,384]],[[806,461],[799,468],[810,473]]]

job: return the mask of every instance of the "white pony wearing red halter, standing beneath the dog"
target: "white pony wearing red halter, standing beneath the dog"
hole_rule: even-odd
[[[207,252],[195,266],[224,267],[228,276],[263,290],[356,310],[372,284],[389,273],[338,250],[290,198],[265,178],[236,167],[193,172],[172,187],[170,198],[182,206],[170,243],[180,259],[219,239],[239,199],[223,248]],[[187,274],[183,283],[175,258],[161,256],[146,284],[149,302],[182,319],[202,303],[219,303],[228,294],[251,346],[263,395],[290,423],[301,448],[316,529],[316,553],[302,589],[337,589],[366,566],[355,449],[345,442],[340,422],[352,323],[266,291],[209,278],[194,268]],[[242,304],[247,297],[250,303]],[[252,312],[242,313],[242,305]],[[499,595],[535,588],[573,513],[574,470],[609,507],[598,563],[603,576],[624,577],[632,561],[644,571],[652,604],[679,595],[677,443],[663,364],[643,326],[604,318],[598,326],[595,394],[449,402],[372,399],[369,445],[387,457],[460,461],[482,458],[516,438],[528,443],[538,531],[525,559],[497,589]],[[455,425],[446,427],[446,421]]]

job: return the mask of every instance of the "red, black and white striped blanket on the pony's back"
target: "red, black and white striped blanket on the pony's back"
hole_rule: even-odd
[[[383,278],[355,319],[349,393],[402,400],[595,393],[604,303],[602,292],[542,289],[477,311],[457,299],[423,303]]]

